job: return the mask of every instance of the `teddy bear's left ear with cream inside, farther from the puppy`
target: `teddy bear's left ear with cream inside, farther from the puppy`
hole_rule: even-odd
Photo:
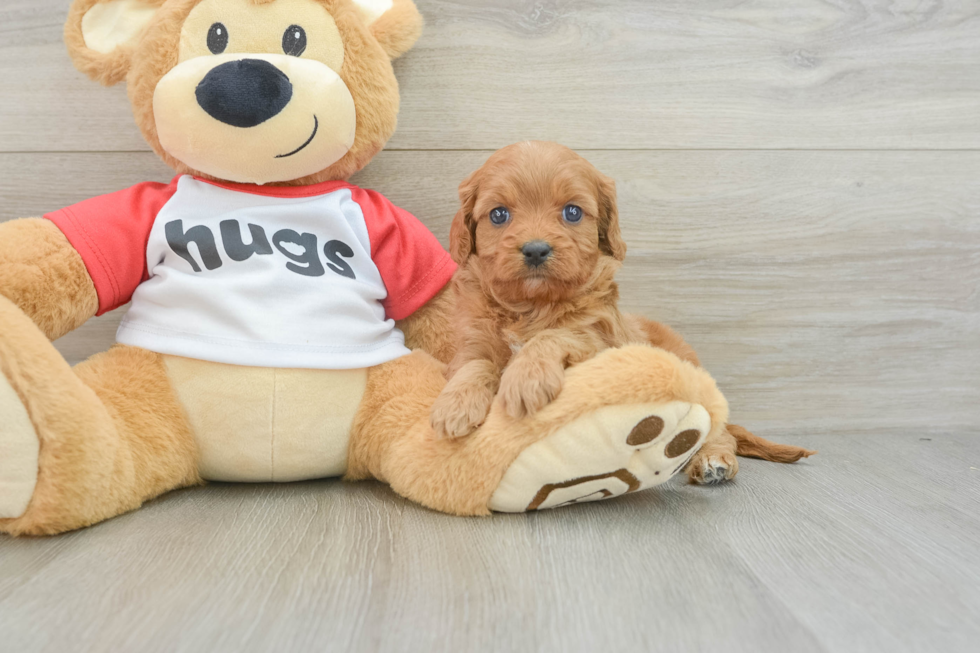
[[[75,67],[111,86],[129,72],[133,46],[164,0],[75,0],[65,45]]]

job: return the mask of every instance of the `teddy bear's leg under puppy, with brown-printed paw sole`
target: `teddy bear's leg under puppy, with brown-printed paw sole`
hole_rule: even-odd
[[[459,515],[557,507],[666,481],[728,417],[707,372],[635,345],[569,369],[558,398],[532,417],[494,407],[473,435],[441,440],[429,407],[442,370],[419,352],[372,370],[348,478],[375,477]]]

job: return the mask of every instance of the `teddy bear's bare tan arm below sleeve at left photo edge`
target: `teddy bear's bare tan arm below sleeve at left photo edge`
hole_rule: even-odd
[[[0,295],[51,340],[77,329],[99,310],[81,255],[43,218],[0,224]]]

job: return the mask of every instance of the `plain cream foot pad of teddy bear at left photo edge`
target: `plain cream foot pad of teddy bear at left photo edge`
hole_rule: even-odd
[[[27,410],[0,372],[0,519],[27,511],[37,483],[39,450]]]

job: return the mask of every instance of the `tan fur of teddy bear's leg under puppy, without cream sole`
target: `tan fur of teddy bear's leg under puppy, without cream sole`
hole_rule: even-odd
[[[423,352],[372,368],[351,435],[348,479],[383,480],[442,512],[487,515],[504,474],[530,445],[597,411],[611,409],[605,413],[611,418],[636,404],[698,404],[710,420],[706,438],[722,433],[728,419],[728,404],[707,372],[666,351],[633,345],[571,368],[562,393],[533,417],[517,420],[495,407],[470,437],[437,439],[428,410],[445,384],[444,369]],[[552,482],[571,480],[574,469],[562,469]]]

